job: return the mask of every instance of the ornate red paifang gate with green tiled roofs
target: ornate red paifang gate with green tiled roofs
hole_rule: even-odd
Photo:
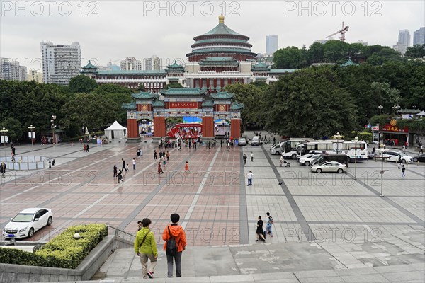
[[[153,137],[241,137],[242,103],[234,93],[208,94],[204,88],[169,88],[159,93],[133,93],[127,110],[128,141],[140,139],[143,125],[153,125]],[[150,129],[151,127],[149,127]]]

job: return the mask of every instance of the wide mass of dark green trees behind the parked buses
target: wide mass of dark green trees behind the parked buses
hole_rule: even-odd
[[[388,120],[393,105],[425,110],[424,90],[425,64],[419,62],[310,67],[270,86],[227,86],[246,106],[244,122],[281,135],[315,138],[364,129],[381,111]]]

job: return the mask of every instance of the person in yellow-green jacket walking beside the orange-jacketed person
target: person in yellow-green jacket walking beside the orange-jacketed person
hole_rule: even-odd
[[[142,220],[142,229],[137,232],[135,240],[135,253],[140,256],[144,279],[147,279],[147,277],[154,278],[154,270],[158,260],[157,243],[154,233],[149,229],[150,224],[152,224],[152,221],[149,218]],[[147,270],[148,259],[151,262],[149,270]]]

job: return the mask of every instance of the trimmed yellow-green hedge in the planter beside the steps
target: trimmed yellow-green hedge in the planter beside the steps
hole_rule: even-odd
[[[74,239],[75,233],[79,233],[81,238]],[[107,235],[108,227],[105,224],[72,226],[35,253],[14,248],[0,248],[0,262],[74,269]]]

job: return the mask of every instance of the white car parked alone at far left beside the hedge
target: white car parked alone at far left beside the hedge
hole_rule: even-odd
[[[27,208],[11,218],[4,226],[4,238],[31,238],[34,233],[44,226],[52,224],[53,211],[48,208]]]

